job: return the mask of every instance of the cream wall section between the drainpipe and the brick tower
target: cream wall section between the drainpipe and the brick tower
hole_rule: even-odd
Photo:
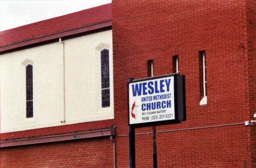
[[[101,108],[100,50],[110,51],[111,106]],[[88,122],[114,118],[112,32],[65,41],[66,121]]]

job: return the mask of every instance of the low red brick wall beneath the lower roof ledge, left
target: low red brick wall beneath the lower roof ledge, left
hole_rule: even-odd
[[[1,167],[113,167],[109,136],[0,150]]]

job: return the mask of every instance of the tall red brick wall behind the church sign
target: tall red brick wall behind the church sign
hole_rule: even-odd
[[[244,63],[247,65],[249,51],[244,54],[239,47],[241,43],[248,47],[247,26],[252,21],[246,17],[246,8],[248,3],[241,0],[113,0],[118,167],[129,166],[127,78],[147,77],[148,60],[154,61],[155,76],[172,73],[173,55],[179,55],[179,71],[186,77],[187,121],[157,127],[157,131],[185,129],[157,133],[158,165],[244,167],[246,161],[247,167],[253,166],[252,126],[243,123],[251,117],[249,99],[255,93],[247,102],[249,80]],[[207,105],[200,106],[199,51],[203,50]],[[254,60],[251,64],[255,65]],[[255,83],[254,79],[250,82]],[[223,126],[226,124],[235,125]],[[136,129],[136,133],[144,132],[152,132],[152,128]],[[136,135],[135,141],[136,165],[153,166],[152,134]]]

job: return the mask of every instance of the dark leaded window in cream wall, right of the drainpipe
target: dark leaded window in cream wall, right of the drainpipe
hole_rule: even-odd
[[[101,106],[110,106],[110,71],[109,71],[109,50],[100,51],[101,62]]]

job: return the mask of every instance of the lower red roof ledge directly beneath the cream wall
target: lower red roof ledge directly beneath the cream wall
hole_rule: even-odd
[[[0,148],[115,135],[114,119],[0,133]]]

